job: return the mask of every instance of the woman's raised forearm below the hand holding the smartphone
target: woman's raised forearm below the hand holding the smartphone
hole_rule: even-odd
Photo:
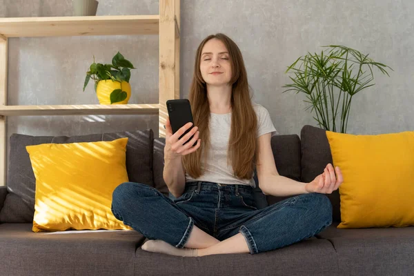
[[[186,186],[186,177],[184,175],[181,157],[164,159],[163,177],[172,195],[175,197],[182,195]]]

